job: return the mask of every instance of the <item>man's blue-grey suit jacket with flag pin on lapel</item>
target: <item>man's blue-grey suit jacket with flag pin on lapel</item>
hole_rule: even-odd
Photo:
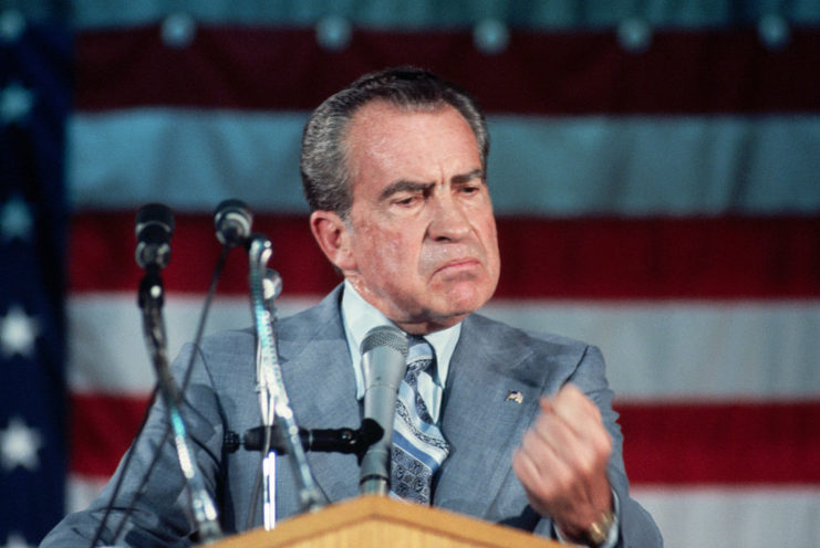
[[[276,334],[284,383],[300,426],[356,428],[361,404],[339,312],[338,287],[322,303],[279,322]],[[196,351],[195,367],[183,408],[196,460],[220,508],[226,534],[243,530],[259,454],[227,453],[226,432],[243,433],[260,424],[255,392],[255,336],[250,330],[206,337]],[[173,365],[181,377],[190,352],[186,347]],[[609,476],[621,507],[621,546],[653,547],[662,540],[650,515],[629,496],[621,456],[622,435],[612,410],[612,391],[599,350],[554,336],[534,336],[474,314],[465,319],[450,362],[443,401],[442,429],[450,443],[435,489],[434,505],[495,523],[550,536],[552,524],[537,515],[511,468],[511,454],[538,414],[538,398],[565,382],[581,388],[601,409],[614,442]],[[520,392],[520,403],[508,399]],[[105,542],[120,524],[143,474],[157,454],[166,431],[165,409],[155,404],[144,433],[132,447],[115,512],[108,518]],[[309,453],[318,487],[328,502],[359,494],[355,456]],[[278,457],[277,516],[300,512],[294,476],[287,457]],[[116,476],[121,475],[121,470]],[[115,478],[87,510],[66,516],[41,546],[83,546],[96,528]],[[258,506],[261,506],[258,505]],[[166,442],[145,494],[124,526],[120,544],[186,546],[191,542],[187,494],[176,453]],[[261,508],[253,516],[261,525]]]

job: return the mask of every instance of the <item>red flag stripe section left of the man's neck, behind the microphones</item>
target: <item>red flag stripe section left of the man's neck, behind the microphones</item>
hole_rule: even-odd
[[[169,266],[163,271],[167,291],[205,293],[219,256],[210,215],[175,215]],[[298,215],[255,215],[253,230],[269,234],[273,259],[269,266],[284,280],[288,295],[326,293],[340,281]],[[70,244],[70,285],[73,292],[136,291],[143,271],[134,261],[134,213],[74,215]],[[248,259],[240,249],[228,255],[218,292],[248,289]],[[136,294],[135,294],[136,295]]]

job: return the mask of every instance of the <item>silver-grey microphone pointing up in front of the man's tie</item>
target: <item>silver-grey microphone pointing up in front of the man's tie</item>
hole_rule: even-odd
[[[390,453],[396,398],[407,369],[407,337],[395,326],[378,326],[362,341],[364,420],[372,419],[384,434],[362,459],[359,489],[362,494],[390,492]]]

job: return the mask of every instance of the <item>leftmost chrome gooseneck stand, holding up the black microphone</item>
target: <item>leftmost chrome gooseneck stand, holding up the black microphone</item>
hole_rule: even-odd
[[[167,356],[167,339],[162,308],[164,303],[163,281],[159,268],[152,265],[146,268],[139,283],[139,308],[143,312],[143,335],[157,375],[159,393],[165,401],[168,423],[174,434],[174,446],[179,467],[186,481],[190,505],[196,521],[199,540],[212,542],[222,536],[217,520],[217,508],[205,488],[205,483],[191,456],[185,421],[179,409],[180,397],[170,376]]]

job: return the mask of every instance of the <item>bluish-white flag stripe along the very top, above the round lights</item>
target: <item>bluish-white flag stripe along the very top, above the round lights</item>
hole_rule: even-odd
[[[20,2],[22,6],[44,2]],[[46,6],[49,6],[46,3]],[[150,24],[169,12],[165,2],[110,0],[73,0],[72,22],[84,27],[120,27]],[[209,0],[186,2],[185,13],[197,21],[209,24],[240,23],[253,27],[313,25],[328,14],[328,3],[321,1],[260,2],[257,0]],[[772,8],[768,2],[746,2],[735,9],[728,0],[662,1],[636,7],[633,0],[608,0],[588,2],[583,9],[577,2],[521,2],[500,10],[490,1],[434,2],[406,0],[381,0],[378,2],[338,2],[332,10],[336,15],[350,19],[357,25],[377,29],[463,29],[469,21],[480,21],[488,13],[502,14],[512,27],[553,31],[617,27],[632,18],[645,19],[651,25],[663,28],[697,28],[755,24],[757,19],[772,12],[793,24],[817,24],[820,8],[813,0],[778,2]]]

